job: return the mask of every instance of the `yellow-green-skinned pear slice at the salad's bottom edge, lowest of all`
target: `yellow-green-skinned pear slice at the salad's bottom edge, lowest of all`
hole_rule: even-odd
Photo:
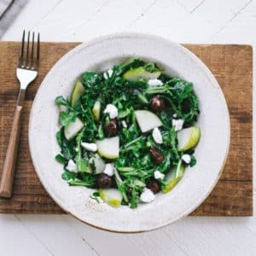
[[[99,189],[99,195],[111,207],[119,207],[123,199],[118,189]]]

